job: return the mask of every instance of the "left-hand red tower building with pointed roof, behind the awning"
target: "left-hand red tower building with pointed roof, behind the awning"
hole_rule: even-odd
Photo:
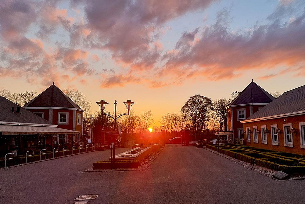
[[[23,107],[59,128],[80,132],[73,139],[80,140],[84,111],[54,83]],[[54,144],[64,145],[66,140],[59,136]]]

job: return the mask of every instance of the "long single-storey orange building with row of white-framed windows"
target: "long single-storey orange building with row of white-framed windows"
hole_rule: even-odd
[[[242,124],[246,145],[305,154],[305,85],[283,93]]]

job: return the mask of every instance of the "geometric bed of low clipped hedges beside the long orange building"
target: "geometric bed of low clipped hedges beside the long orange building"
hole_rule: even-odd
[[[235,159],[286,174],[305,174],[305,155],[228,143],[206,144],[206,147]]]

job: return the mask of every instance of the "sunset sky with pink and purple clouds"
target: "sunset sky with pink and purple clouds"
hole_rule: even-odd
[[[179,113],[195,94],[230,98],[305,83],[304,0],[2,0],[0,88],[54,82],[113,111]]]

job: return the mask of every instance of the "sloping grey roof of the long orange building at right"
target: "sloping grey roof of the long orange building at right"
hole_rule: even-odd
[[[305,111],[305,85],[286,91],[247,120]],[[284,117],[284,116],[283,116]]]

